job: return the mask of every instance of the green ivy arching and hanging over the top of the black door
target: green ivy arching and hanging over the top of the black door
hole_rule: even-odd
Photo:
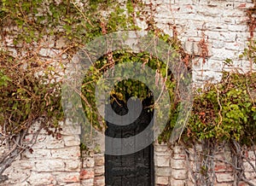
[[[83,94],[83,105],[84,112],[92,125],[96,128],[102,130],[102,125],[100,125],[99,121],[102,121],[100,114],[97,112],[96,108],[96,98],[95,98],[95,87],[97,81],[102,78],[102,74],[105,73],[110,67],[113,65],[117,65],[120,63],[129,63],[129,62],[138,62],[141,67],[148,66],[151,69],[157,70],[160,72],[161,77],[159,81],[163,81],[166,78],[166,88],[169,90],[170,99],[174,100],[175,97],[175,89],[176,89],[176,81],[172,76],[171,72],[166,74],[166,65],[159,61],[157,58],[152,57],[147,53],[139,53],[134,54],[131,52],[125,51],[115,51],[112,54],[113,63],[108,62],[108,55],[103,56],[101,59],[96,61],[95,67],[90,67],[89,72],[84,77],[84,82],[82,85],[82,94]],[[114,68],[113,68],[114,71]],[[121,75],[121,74],[120,74]],[[166,77],[167,75],[167,77]],[[149,75],[145,74],[145,78]],[[153,78],[154,79],[154,78]],[[158,82],[148,82],[148,84],[158,84]],[[150,90],[146,84],[143,84],[140,81],[135,81],[133,79],[124,79],[120,81],[118,84],[115,84],[113,90],[109,93],[111,100],[119,99],[120,101],[127,102],[131,96],[135,96],[139,98],[141,101],[147,99],[152,96]],[[172,102],[174,105],[174,102]],[[170,107],[172,107],[170,105]],[[154,102],[151,102],[151,108],[154,108]],[[174,110],[175,111],[175,110]]]

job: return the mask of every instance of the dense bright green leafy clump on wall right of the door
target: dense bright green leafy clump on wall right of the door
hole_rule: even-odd
[[[256,142],[256,74],[224,73],[222,82],[209,84],[195,96],[187,136],[196,140],[235,139]]]

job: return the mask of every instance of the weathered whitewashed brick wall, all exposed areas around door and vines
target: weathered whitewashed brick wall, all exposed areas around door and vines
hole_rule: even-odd
[[[241,71],[250,70],[249,61],[240,60],[238,55],[247,46],[249,32],[245,10],[253,6],[252,1],[147,0],[147,3],[150,2],[157,12],[154,15],[157,26],[171,36],[177,34],[184,49],[195,55],[193,79],[196,84],[220,80],[220,72],[232,68],[224,67],[227,58],[233,60]],[[143,23],[140,24],[143,26]],[[205,61],[200,47],[203,38],[207,44]],[[12,38],[6,40],[9,49],[16,54],[15,48],[12,48]],[[63,47],[61,40],[49,38],[46,43],[39,50],[42,58],[67,59],[67,55],[59,52]],[[63,125],[61,140],[49,137],[42,131],[33,148],[34,152],[26,152],[9,167],[5,172],[9,180],[2,185],[104,185],[104,155],[84,154],[81,158],[80,133],[80,126],[73,124]],[[224,157],[226,160],[226,156],[226,152],[219,154],[220,159]],[[248,152],[248,158],[255,166],[253,152]],[[156,185],[193,185],[188,162],[194,160],[188,157],[182,147],[177,146],[171,150],[165,144],[155,144]],[[247,179],[256,185],[256,175],[252,168],[247,162],[245,167]],[[234,175],[228,164],[216,161],[214,169],[216,185],[232,185]]]

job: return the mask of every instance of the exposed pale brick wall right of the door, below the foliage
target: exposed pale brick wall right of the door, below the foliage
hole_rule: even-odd
[[[200,185],[195,183],[195,178],[203,173],[199,154],[204,154],[207,149],[201,145],[196,145],[195,148],[189,148],[187,151],[183,146],[175,146],[168,148],[165,144],[155,146],[154,163],[155,170],[155,185]],[[247,154],[247,160],[243,162],[244,173],[253,185],[256,185],[256,173],[253,171],[255,166],[255,155],[253,151],[244,152]],[[210,159],[210,157],[209,157]],[[214,185],[217,186],[232,186],[234,185],[234,172],[232,169],[230,149],[220,147],[214,154],[214,163],[211,171],[214,174]],[[237,183],[239,186],[248,185],[247,183]]]

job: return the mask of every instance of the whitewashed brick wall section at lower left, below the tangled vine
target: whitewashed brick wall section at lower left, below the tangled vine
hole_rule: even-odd
[[[37,128],[33,126],[24,140],[30,140]],[[9,180],[2,185],[80,185],[79,134],[80,126],[73,124],[63,125],[60,140],[41,131],[33,152],[26,151],[18,157],[5,171]]]

